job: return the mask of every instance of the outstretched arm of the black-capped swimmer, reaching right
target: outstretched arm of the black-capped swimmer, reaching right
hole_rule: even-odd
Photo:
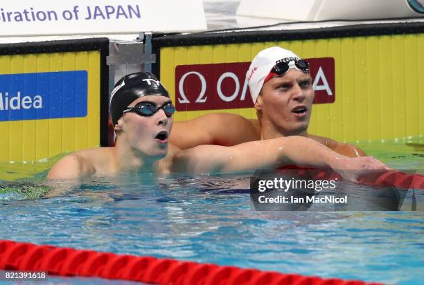
[[[173,171],[197,174],[252,172],[256,169],[276,169],[285,165],[329,167],[336,170],[387,169],[386,165],[375,158],[348,158],[302,136],[260,140],[234,147],[204,145],[182,151],[176,160]],[[348,175],[354,180],[360,172],[355,172],[355,175],[346,174]]]

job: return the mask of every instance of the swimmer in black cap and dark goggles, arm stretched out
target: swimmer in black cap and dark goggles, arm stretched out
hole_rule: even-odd
[[[56,163],[47,178],[79,179],[121,173],[251,172],[285,165],[362,169],[364,160],[344,158],[309,138],[293,136],[233,147],[202,145],[181,150],[168,144],[175,107],[152,73],[125,75],[111,94],[114,147],[82,149]],[[366,160],[367,171],[372,165]],[[350,163],[350,164],[349,164]],[[375,167],[384,167],[374,162]],[[349,172],[351,173],[351,172]]]

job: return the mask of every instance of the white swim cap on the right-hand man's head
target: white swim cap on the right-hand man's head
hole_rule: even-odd
[[[273,46],[272,48],[261,50],[251,61],[249,70],[246,73],[246,80],[249,84],[251,100],[253,100],[254,103],[258,98],[260,89],[262,89],[265,77],[270,74],[274,65],[281,59],[300,59],[300,57],[291,50]],[[297,67],[293,64],[290,68]]]

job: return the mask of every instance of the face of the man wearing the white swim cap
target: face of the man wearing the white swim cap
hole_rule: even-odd
[[[292,68],[265,82],[255,109],[261,123],[272,125],[279,134],[301,135],[308,129],[313,101],[312,78]]]

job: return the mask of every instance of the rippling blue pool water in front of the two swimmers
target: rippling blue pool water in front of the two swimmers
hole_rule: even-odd
[[[369,153],[374,146],[361,147]],[[423,150],[420,143],[414,147],[388,148],[383,158],[376,147],[374,155],[391,167],[422,172]],[[45,175],[30,181],[42,184]],[[62,183],[48,199],[0,194],[0,239],[422,284],[424,212],[261,212],[251,210],[248,193],[248,175],[123,174]],[[416,199],[423,203],[424,193],[416,191]]]

